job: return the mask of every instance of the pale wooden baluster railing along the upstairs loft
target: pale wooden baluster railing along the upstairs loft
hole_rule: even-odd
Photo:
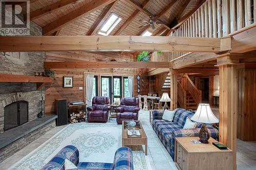
[[[170,36],[220,38],[254,22],[256,22],[256,0],[208,0]],[[185,54],[187,53],[164,53],[170,56],[169,61]]]

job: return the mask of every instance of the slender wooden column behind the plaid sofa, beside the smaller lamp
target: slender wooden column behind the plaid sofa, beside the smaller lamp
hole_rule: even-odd
[[[178,77],[178,71],[175,69],[170,70],[170,109],[174,110],[177,108],[177,77]]]

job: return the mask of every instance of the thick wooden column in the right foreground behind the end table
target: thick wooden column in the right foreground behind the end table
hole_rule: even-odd
[[[233,59],[235,58],[235,59]],[[233,169],[236,165],[237,142],[237,84],[239,60],[224,54],[217,58],[220,69],[220,141],[233,151]]]

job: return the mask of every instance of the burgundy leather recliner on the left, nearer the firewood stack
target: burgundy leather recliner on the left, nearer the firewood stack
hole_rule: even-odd
[[[110,111],[110,98],[104,96],[95,96],[92,100],[92,106],[87,107],[88,122],[108,122]]]

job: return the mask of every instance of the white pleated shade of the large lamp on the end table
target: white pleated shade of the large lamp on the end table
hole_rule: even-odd
[[[200,103],[196,113],[190,118],[195,122],[205,123],[205,124],[215,124],[219,123],[219,119],[212,113],[209,104]]]

